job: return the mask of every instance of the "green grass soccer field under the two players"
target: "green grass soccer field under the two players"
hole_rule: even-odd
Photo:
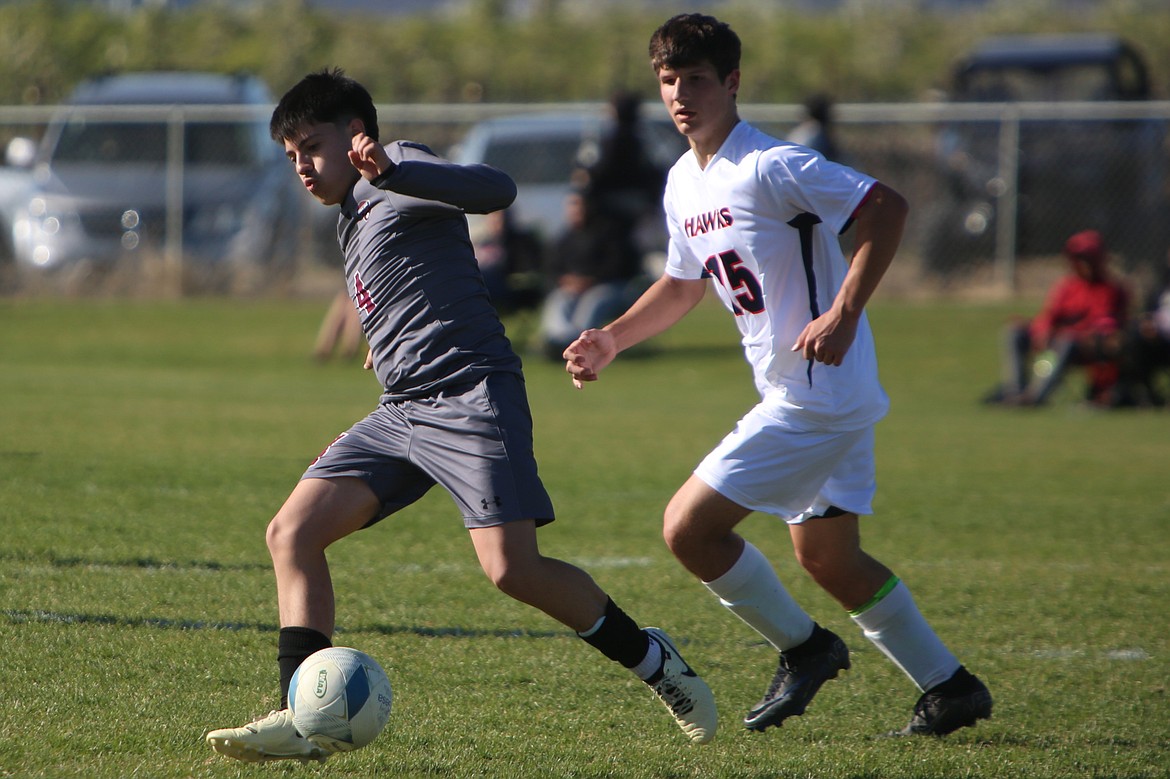
[[[991,685],[994,717],[882,740],[916,691],[742,526],[854,668],[806,716],[738,726],[775,656],[673,561],[662,506],[752,402],[704,304],[574,392],[528,357],[545,552],[581,564],[710,682],[691,747],[620,668],[479,571],[439,492],[331,553],[338,643],[378,657],[391,724],[324,766],[248,766],[202,733],[276,703],[263,528],[307,462],[377,400],[309,360],[319,302],[0,302],[0,777],[1170,777],[1170,416],[982,407],[997,330],[1031,305],[875,303],[893,411],[867,549]],[[1079,381],[1074,377],[1073,382]]]

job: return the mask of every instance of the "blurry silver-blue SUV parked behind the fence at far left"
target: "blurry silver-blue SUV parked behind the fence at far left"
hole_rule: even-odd
[[[185,270],[287,264],[297,188],[268,136],[273,104],[247,75],[140,73],[83,83],[46,130],[30,186],[9,215],[18,268],[102,269],[161,255],[180,223]],[[183,150],[172,156],[177,110]],[[179,194],[181,222],[168,228]]]

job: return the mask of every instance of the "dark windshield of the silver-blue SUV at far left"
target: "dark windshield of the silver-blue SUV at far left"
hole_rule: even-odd
[[[252,165],[256,161],[250,127],[239,122],[192,123],[185,126],[184,161],[192,165]],[[158,122],[90,122],[73,119],[61,131],[57,163],[166,161],[165,124]]]

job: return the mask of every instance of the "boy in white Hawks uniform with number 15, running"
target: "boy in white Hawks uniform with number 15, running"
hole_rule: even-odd
[[[801,715],[849,668],[848,649],[789,595],[735,532],[750,512],[784,518],[796,557],[918,687],[894,735],[943,736],[991,716],[991,695],[934,633],[889,568],[861,550],[875,489],[873,426],[888,406],[865,305],[889,267],[908,206],[896,192],[739,120],[739,40],[700,14],[651,39],[651,62],[690,152],[672,168],[666,274],[631,309],[565,350],[578,387],[703,297],[735,315],[760,402],[670,499],[663,537],[682,565],[779,652],[751,730]],[[846,262],[837,235],[854,226]]]

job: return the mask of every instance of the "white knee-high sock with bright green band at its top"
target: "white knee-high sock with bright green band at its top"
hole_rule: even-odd
[[[896,577],[868,604],[849,612],[849,616],[920,690],[945,682],[958,670],[958,660],[927,623],[909,588]]]

